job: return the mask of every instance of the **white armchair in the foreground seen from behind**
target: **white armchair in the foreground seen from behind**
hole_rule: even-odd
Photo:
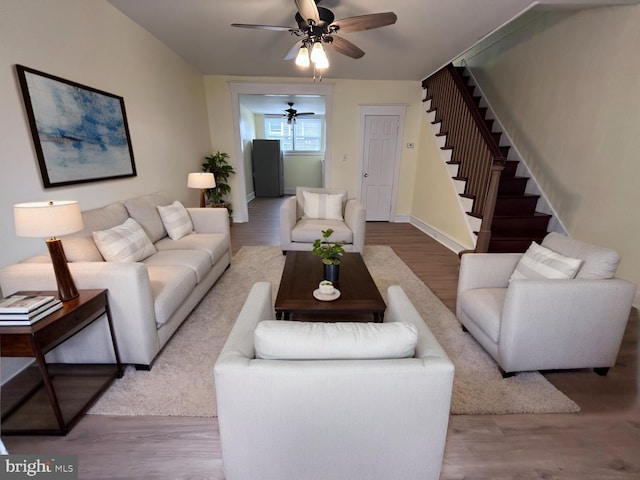
[[[454,366],[400,287],[387,305],[385,323],[359,325],[410,324],[412,357],[265,360],[254,331],[274,318],[271,285],[253,286],[215,366],[227,480],[439,478]],[[303,329],[323,325],[350,328]]]

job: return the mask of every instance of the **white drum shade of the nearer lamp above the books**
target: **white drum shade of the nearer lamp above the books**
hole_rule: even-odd
[[[57,237],[83,228],[76,201],[18,203],[13,206],[13,218],[19,237]]]

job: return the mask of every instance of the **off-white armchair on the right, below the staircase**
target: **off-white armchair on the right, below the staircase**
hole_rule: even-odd
[[[503,376],[527,370],[594,368],[616,362],[636,286],[615,278],[610,249],[548,234],[542,246],[582,260],[573,279],[513,279],[523,254],[462,256],[456,314]]]

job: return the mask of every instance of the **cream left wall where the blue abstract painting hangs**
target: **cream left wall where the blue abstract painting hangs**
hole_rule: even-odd
[[[122,96],[137,177],[43,188],[15,64]],[[202,75],[104,0],[2,0],[0,112],[0,267],[45,250],[16,237],[15,203],[87,210],[153,191],[198,201],[186,177],[211,150]]]

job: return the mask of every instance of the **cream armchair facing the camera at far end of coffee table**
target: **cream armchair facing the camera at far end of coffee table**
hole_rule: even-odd
[[[319,215],[305,214],[305,193],[342,195],[339,217],[328,215],[319,208]],[[309,197],[307,197],[309,198]],[[307,211],[309,205],[307,205]],[[322,231],[333,229],[331,241],[345,241],[347,252],[362,253],[366,229],[365,210],[362,204],[353,198],[347,198],[344,189],[325,189],[296,187],[296,195],[286,199],[280,207],[280,246],[283,253],[288,250],[311,250],[313,242],[322,238]]]

